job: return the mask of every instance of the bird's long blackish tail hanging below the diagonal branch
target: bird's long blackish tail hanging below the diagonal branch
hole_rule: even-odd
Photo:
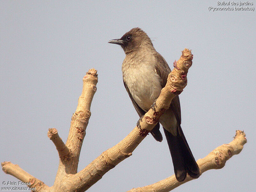
[[[180,125],[177,126],[177,136],[173,136],[165,129],[164,134],[171,152],[176,179],[178,181],[185,180],[187,173],[193,178],[198,178],[200,176],[199,167]]]

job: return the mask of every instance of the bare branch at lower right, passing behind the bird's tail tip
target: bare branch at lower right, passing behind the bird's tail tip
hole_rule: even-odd
[[[233,155],[239,154],[244,144],[247,142],[245,133],[243,131],[236,131],[234,140],[228,144],[223,144],[215,148],[207,156],[197,160],[197,164],[200,168],[200,175],[210,169],[221,169],[225,166],[226,161]],[[158,181],[152,185],[148,185],[140,188],[133,188],[127,192],[168,192],[172,189],[186,183],[195,178],[187,175],[186,179],[182,182],[178,182],[175,175],[172,175],[164,180]]]

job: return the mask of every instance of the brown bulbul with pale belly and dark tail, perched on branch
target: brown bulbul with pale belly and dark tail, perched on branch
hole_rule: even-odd
[[[108,43],[119,44],[124,50],[124,87],[141,118],[160,95],[171,69],[141,28],[132,28],[120,39],[112,39]],[[187,173],[193,178],[198,178],[199,167],[180,125],[181,109],[178,95],[172,99],[169,109],[159,118],[159,122],[164,128],[176,179],[180,182],[185,180]],[[159,122],[151,134],[161,142],[163,136],[159,130]]]

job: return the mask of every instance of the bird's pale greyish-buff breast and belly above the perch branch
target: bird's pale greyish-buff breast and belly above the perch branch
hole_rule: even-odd
[[[148,53],[146,53],[148,54]],[[156,73],[154,62],[146,54],[126,55],[123,65],[123,78],[135,102],[148,111],[158,98],[162,86],[161,77]]]

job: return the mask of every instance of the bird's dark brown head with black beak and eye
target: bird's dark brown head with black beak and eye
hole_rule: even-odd
[[[119,44],[124,49],[125,54],[133,52],[141,47],[153,48],[153,44],[148,35],[140,28],[132,28],[120,39],[112,39],[108,43]]]

